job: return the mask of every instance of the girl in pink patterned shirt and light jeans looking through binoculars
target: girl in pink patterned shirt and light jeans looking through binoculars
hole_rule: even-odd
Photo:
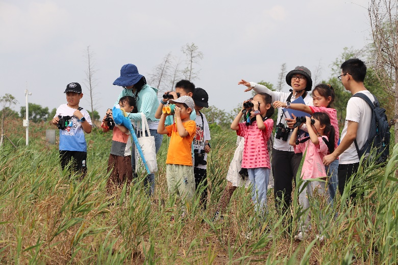
[[[272,133],[274,109],[271,96],[258,93],[243,103],[243,108],[231,124],[231,129],[244,138],[242,168],[246,168],[252,184],[252,200],[260,220],[265,216],[270,161],[267,142]],[[239,123],[245,115],[246,122]]]

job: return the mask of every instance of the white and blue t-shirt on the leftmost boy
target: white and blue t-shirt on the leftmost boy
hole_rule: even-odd
[[[62,151],[87,152],[87,144],[84,137],[82,123],[78,121],[77,117],[73,116],[74,111],[76,111],[76,109],[68,107],[67,104],[62,104],[57,109],[57,112],[54,116],[54,118],[58,117],[58,115],[71,117],[68,120],[67,128],[64,130],[59,130],[59,149]],[[86,121],[92,125],[90,114],[88,114],[88,112],[84,109],[80,112],[86,118]]]

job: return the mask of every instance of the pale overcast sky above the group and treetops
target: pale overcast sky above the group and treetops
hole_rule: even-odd
[[[181,46],[193,42],[204,55],[193,83],[210,105],[230,111],[249,96],[237,85],[241,78],[277,84],[283,63],[313,73],[320,64],[328,78],[344,47],[368,43],[367,7],[365,0],[0,0],[0,96],[15,96],[19,112],[28,88],[29,102],[51,110],[66,103],[66,85],[78,82],[80,105],[89,110],[83,81],[90,45],[102,116],[121,90],[112,83],[123,64],[148,76],[170,51],[183,61]]]

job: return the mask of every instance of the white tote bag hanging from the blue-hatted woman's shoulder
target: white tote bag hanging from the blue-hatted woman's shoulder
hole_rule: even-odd
[[[138,143],[141,146],[141,150],[144,154],[146,165],[151,173],[155,173],[158,171],[158,163],[156,162],[156,147],[155,147],[155,137],[151,136],[151,132],[148,126],[148,122],[146,121],[146,117],[143,113],[141,113],[141,131],[138,130],[140,126],[140,122],[137,122],[137,135],[141,134],[138,138]],[[147,131],[148,136],[145,135],[145,131]],[[141,156],[137,150],[137,147],[134,148],[135,154],[135,170],[146,171],[144,164],[142,163]]]

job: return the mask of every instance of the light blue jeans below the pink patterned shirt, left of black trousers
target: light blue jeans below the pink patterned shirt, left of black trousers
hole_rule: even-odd
[[[269,171],[269,168],[247,169],[249,179],[252,185],[252,200],[255,205],[255,210],[258,212],[261,218],[265,217]]]

